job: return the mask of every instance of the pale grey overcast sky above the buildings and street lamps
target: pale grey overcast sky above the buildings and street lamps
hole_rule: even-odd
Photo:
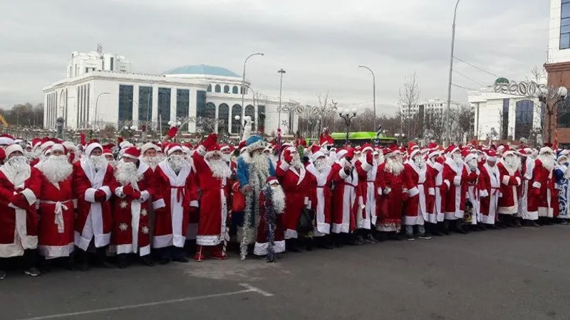
[[[404,78],[417,73],[421,97],[447,98],[455,0],[4,0],[0,1],[0,107],[42,102],[42,87],[65,78],[72,51],[125,55],[134,72],[219,65],[255,90],[316,104],[318,94],[351,107],[393,113]],[[523,79],[546,61],[549,1],[462,0],[455,56],[495,75]],[[456,61],[453,82],[495,78]],[[465,78],[470,78],[471,80]],[[453,87],[452,99],[467,101]]]

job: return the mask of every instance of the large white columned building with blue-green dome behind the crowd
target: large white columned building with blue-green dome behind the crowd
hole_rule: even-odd
[[[279,100],[254,93],[249,81],[227,68],[182,65],[162,75],[131,73],[125,57],[90,51],[72,53],[67,74],[43,88],[45,128],[54,129],[62,117],[70,129],[112,124],[164,132],[181,122],[183,132],[239,135],[245,116],[254,131],[272,134],[278,127]],[[281,114],[281,120],[285,133],[296,131],[296,115]]]

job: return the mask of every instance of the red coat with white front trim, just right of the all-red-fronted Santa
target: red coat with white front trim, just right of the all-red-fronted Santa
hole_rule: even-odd
[[[405,225],[423,225],[427,220],[427,196],[435,196],[434,186],[430,186],[427,165],[419,168],[414,161],[404,165],[404,188],[408,189],[408,202],[405,206]]]

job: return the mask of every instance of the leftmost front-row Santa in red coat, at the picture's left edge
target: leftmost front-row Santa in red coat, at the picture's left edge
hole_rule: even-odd
[[[26,162],[19,144],[6,146],[0,167],[0,279],[6,277],[8,259],[24,256],[24,274],[38,276],[38,215],[36,195],[41,186],[38,169]],[[53,221],[52,221],[53,222]]]

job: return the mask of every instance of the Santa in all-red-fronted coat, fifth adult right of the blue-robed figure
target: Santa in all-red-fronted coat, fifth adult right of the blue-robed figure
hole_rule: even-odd
[[[403,187],[404,164],[398,146],[393,146],[385,154],[385,163],[378,167],[378,223],[376,230],[381,236],[401,240],[398,237],[402,225],[403,202],[408,198],[408,189]]]

